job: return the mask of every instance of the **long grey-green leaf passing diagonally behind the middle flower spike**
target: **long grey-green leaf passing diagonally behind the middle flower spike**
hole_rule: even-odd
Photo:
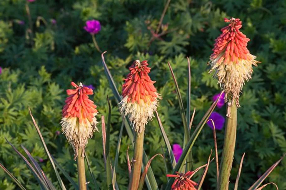
[[[104,67],[106,77],[109,81],[111,90],[112,90],[113,95],[116,99],[116,102],[119,103],[121,101],[120,95],[119,95],[118,90],[116,88],[115,82],[111,76],[111,73],[110,73],[110,71],[109,71],[109,69],[105,63],[105,59],[104,59],[105,53],[106,53],[106,51],[101,54],[102,64]],[[122,118],[124,118],[124,115],[121,115],[121,116],[122,116]],[[125,129],[127,131],[127,134],[129,136],[130,141],[133,143],[134,137],[133,137],[132,127],[130,126],[130,121],[127,118],[125,118],[124,126],[125,126]],[[143,165],[146,165],[147,163],[148,163],[148,157],[146,155],[146,152],[143,150]],[[144,166],[142,166],[141,170],[142,171],[144,170]],[[145,178],[145,182],[146,182],[148,189],[151,189],[151,190],[159,189],[158,184],[157,184],[156,179],[155,179],[155,176],[154,176],[154,173],[153,173],[153,170],[152,170],[152,167],[150,167],[148,169],[147,176]]]

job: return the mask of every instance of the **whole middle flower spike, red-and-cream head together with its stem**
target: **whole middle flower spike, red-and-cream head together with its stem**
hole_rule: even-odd
[[[120,111],[131,121],[135,131],[134,157],[129,189],[138,189],[144,144],[144,130],[148,121],[154,117],[160,95],[148,75],[150,68],[147,61],[136,60],[129,67],[130,73],[122,85]]]

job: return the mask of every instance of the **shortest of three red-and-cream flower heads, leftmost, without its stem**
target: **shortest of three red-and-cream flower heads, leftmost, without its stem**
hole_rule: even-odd
[[[84,149],[88,139],[93,136],[94,131],[98,131],[96,124],[96,105],[89,100],[88,95],[93,94],[93,90],[80,83],[76,85],[71,82],[76,89],[67,90],[67,99],[62,109],[62,131],[67,141],[73,146],[75,158],[78,156],[78,149]]]

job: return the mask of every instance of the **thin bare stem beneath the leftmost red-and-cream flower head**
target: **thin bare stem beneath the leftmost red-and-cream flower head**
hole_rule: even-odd
[[[86,190],[84,154],[81,148],[78,150],[78,186],[79,190]]]

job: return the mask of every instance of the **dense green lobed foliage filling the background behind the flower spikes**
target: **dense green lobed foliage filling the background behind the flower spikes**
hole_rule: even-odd
[[[128,73],[127,68],[132,60],[148,60],[152,68],[151,79],[157,81],[155,87],[163,96],[158,108],[163,126],[170,143],[182,145],[183,126],[167,62],[173,67],[186,104],[186,56],[191,59],[191,104],[192,110],[196,108],[194,125],[197,125],[211,105],[212,96],[220,92],[217,80],[208,74],[207,66],[214,39],[220,34],[220,28],[226,25],[225,17],[240,18],[243,21],[242,32],[251,39],[248,49],[262,63],[254,68],[253,79],[246,83],[241,94],[230,188],[234,186],[243,152],[246,152],[246,157],[239,189],[250,187],[286,152],[285,0],[172,0],[163,20],[163,24],[169,23],[169,33],[162,36],[163,40],[155,39],[151,44],[152,33],[148,26],[156,29],[166,0],[37,0],[29,3],[32,36],[28,30],[25,3],[25,0],[0,1],[0,66],[3,68],[0,75],[0,162],[27,188],[39,189],[29,169],[11,151],[4,137],[16,147],[23,144],[39,160],[42,158],[40,165],[44,172],[52,181],[56,181],[28,114],[28,107],[40,126],[51,154],[76,180],[72,148],[62,134],[56,134],[61,129],[61,109],[66,97],[65,90],[71,88],[71,81],[96,87],[91,99],[104,116],[108,111],[106,96],[111,97],[111,157],[115,157],[122,119],[105,77],[100,53],[96,51],[89,33],[83,29],[88,19],[97,19],[101,23],[96,40],[102,50],[108,51],[105,59],[120,92],[122,79]],[[39,16],[46,20],[46,24],[43,20],[37,22]],[[52,18],[57,20],[56,25],[51,24]],[[19,20],[25,24],[20,25]],[[33,45],[30,44],[31,39]],[[216,111],[225,115],[224,109],[216,108]],[[106,182],[100,126],[101,123],[100,132],[89,140],[86,151],[92,170],[104,189]],[[161,153],[160,145],[164,147],[164,140],[157,121],[149,122],[145,136],[147,155],[151,157]],[[223,138],[224,130],[217,131],[219,153]],[[117,175],[120,189],[126,189],[128,183],[128,145],[131,142],[124,134]],[[195,167],[207,162],[213,147],[213,133],[206,126],[192,151]],[[163,160],[154,159],[152,168],[159,187],[164,186],[167,178]],[[88,174],[87,178],[92,183]],[[281,190],[286,189],[285,159],[267,181],[277,183]],[[213,162],[203,188],[214,187]],[[2,170],[0,189],[17,189]]]

